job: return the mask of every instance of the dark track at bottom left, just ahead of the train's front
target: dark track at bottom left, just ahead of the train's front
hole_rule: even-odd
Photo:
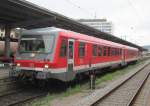
[[[46,91],[31,89],[22,89],[20,91],[4,94],[0,96],[0,106],[21,105],[27,101],[45,96]]]

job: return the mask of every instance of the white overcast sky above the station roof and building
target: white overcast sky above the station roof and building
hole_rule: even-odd
[[[150,45],[150,0],[28,0],[73,19],[106,18],[113,35]]]

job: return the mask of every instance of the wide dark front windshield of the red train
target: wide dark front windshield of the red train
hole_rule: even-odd
[[[19,53],[49,53],[53,47],[53,36],[22,36]]]

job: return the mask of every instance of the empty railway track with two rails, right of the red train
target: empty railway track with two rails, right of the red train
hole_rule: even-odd
[[[150,64],[130,76],[90,106],[132,106],[150,75]]]

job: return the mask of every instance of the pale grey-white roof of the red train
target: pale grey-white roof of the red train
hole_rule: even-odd
[[[36,28],[36,29],[24,30],[24,31],[22,31],[22,35],[50,34],[50,33],[58,33],[58,32],[60,32],[60,33],[70,33],[69,36],[68,36],[68,34],[64,34],[64,35],[66,35],[67,37],[72,37],[72,38],[75,37],[75,38],[78,38],[80,40],[88,40],[90,42],[97,42],[97,43],[101,42],[102,44],[106,44],[108,46],[125,47],[125,48],[128,48],[128,49],[137,50],[137,48],[130,47],[130,46],[127,46],[127,45],[115,43],[115,42],[112,42],[112,41],[107,41],[107,40],[104,40],[104,39],[96,38],[96,37],[89,36],[89,35],[80,34],[80,33],[77,33],[77,32],[70,31],[70,30],[64,30],[64,29],[56,28],[56,27],[46,27],[46,28]]]

